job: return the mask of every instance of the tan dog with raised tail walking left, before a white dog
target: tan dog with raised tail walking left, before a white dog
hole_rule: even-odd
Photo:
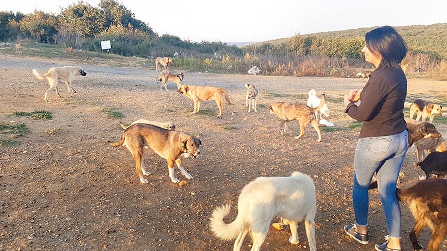
[[[275,114],[281,120],[279,130],[281,134],[287,131],[287,122],[298,120],[300,133],[295,136],[295,139],[299,139],[304,135],[304,128],[307,124],[311,124],[318,134],[318,142],[321,142],[321,130],[318,126],[318,121],[315,118],[315,112],[320,110],[324,105],[324,94],[321,98],[321,102],[316,108],[310,108],[304,104],[292,104],[286,102],[276,102],[270,105],[270,114]],[[281,130],[284,126],[284,131]]]

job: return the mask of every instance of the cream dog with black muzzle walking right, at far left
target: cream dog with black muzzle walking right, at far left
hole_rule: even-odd
[[[67,88],[70,93],[70,97],[74,97],[72,94],[72,90],[76,93],[76,90],[72,87],[72,79],[76,75],[85,76],[87,73],[81,68],[77,66],[64,66],[64,67],[52,67],[48,70],[47,73],[41,75],[36,69],[33,69],[33,74],[40,80],[48,79],[48,84],[50,88],[45,92],[44,100],[50,102],[47,96],[48,93],[54,88],[56,89],[56,93],[59,97],[62,97],[59,93],[58,89],[58,80],[65,82],[67,84]]]

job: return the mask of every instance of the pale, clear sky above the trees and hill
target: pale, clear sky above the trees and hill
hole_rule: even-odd
[[[59,14],[78,0],[5,0],[0,11]],[[98,7],[99,0],[82,0]],[[158,35],[262,42],[324,31],[447,23],[447,0],[117,0]]]

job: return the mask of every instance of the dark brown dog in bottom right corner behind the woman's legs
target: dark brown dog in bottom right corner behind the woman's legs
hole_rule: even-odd
[[[409,188],[397,189],[396,195],[399,200],[408,202],[416,222],[410,232],[413,248],[423,249],[417,238],[422,228],[428,226],[432,230],[432,238],[427,248],[430,251],[439,251],[440,244],[447,235],[447,180],[419,181]]]

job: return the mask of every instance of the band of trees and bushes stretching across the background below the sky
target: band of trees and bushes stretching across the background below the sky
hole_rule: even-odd
[[[447,24],[396,29],[409,47],[403,62],[409,72],[446,75]],[[115,0],[100,0],[97,7],[79,1],[57,15],[39,10],[29,14],[0,11],[0,41],[28,40],[101,52],[100,42],[110,40],[108,52],[121,56],[153,59],[175,55],[174,63],[180,67],[243,72],[257,65],[263,74],[295,76],[352,76],[371,67],[361,53],[368,30],[298,34],[238,48],[159,35]]]

